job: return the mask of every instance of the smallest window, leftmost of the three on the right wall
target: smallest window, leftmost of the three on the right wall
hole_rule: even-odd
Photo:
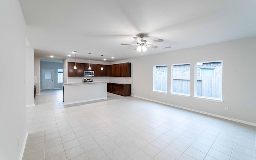
[[[154,91],[167,92],[167,72],[167,65],[154,66]]]

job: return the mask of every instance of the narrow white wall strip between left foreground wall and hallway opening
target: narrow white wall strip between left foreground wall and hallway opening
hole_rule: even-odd
[[[26,47],[26,106],[34,106],[34,49]]]

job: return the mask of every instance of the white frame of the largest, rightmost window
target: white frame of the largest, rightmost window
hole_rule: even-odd
[[[198,96],[197,95],[197,64],[198,63],[216,63],[216,62],[221,62],[221,85],[220,85],[220,98],[214,98],[214,97],[207,97],[207,96]],[[209,69],[214,69],[214,77],[215,77],[215,68],[209,68]],[[201,76],[201,70],[200,70],[200,76]],[[214,61],[200,61],[200,62],[195,62],[195,69],[194,69],[194,98],[198,99],[204,99],[204,100],[212,100],[216,102],[223,102],[222,99],[222,92],[223,92],[223,60],[214,60]]]

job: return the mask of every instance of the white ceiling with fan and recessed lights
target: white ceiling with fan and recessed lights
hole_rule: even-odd
[[[19,0],[35,56],[108,62],[256,36],[256,0]],[[171,46],[172,48],[164,49]],[[72,55],[74,56],[74,55]],[[111,57],[114,59],[111,59]]]

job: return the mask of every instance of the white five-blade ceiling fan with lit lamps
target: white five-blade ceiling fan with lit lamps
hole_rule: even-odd
[[[137,45],[138,47],[135,48],[134,50],[138,50],[138,52],[141,52],[141,55],[142,55],[143,52],[145,52],[147,50],[146,47],[158,48],[157,46],[151,45],[152,43],[164,41],[163,39],[159,39],[159,40],[152,40],[152,41],[147,42],[146,40],[142,39],[143,37],[144,37],[143,34],[140,35],[141,40],[139,37],[133,37],[137,41],[137,44],[121,44],[121,45]]]

